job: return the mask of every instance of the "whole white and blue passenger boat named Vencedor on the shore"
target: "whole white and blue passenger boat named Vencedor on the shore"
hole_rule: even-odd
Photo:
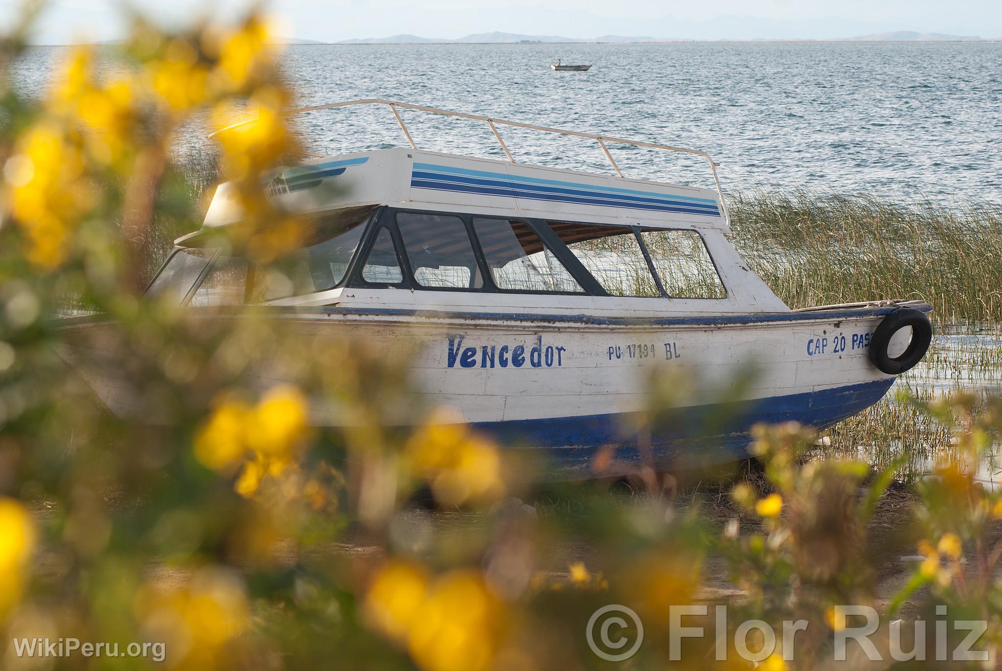
[[[657,461],[692,452],[721,461],[743,455],[757,421],[830,426],[880,400],[929,345],[924,302],[785,305],[728,242],[715,163],[702,151],[388,100],[303,111],[362,104],[388,105],[410,146],[316,156],[266,176],[278,207],[316,222],[291,271],[255,273],[205,248],[207,232],[239,216],[223,184],[202,230],[176,241],[148,294],[206,318],[253,303],[311,336],[407,347],[428,404],[570,468],[610,445],[624,467],[638,444]],[[484,122],[506,159],[419,149],[400,108]],[[593,140],[612,174],[519,163],[504,126]],[[712,188],[625,178],[613,144],[695,155]],[[100,320],[73,328],[65,355],[103,402],[149,416],[116,378]],[[627,428],[658,368],[693,380],[679,416],[728,417],[711,440],[695,447],[678,427],[643,437]],[[263,375],[263,387],[274,383]],[[721,403],[721,392],[736,403]],[[346,421],[320,401],[312,411],[318,425]]]

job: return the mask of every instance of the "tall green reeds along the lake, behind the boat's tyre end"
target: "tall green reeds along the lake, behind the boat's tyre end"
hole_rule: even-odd
[[[739,195],[731,240],[794,308],[921,299],[940,323],[1002,321],[1002,207]]]

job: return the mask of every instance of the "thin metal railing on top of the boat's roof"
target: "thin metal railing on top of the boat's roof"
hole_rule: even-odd
[[[566,128],[551,128],[545,125],[533,125],[531,123],[522,123],[520,121],[509,121],[500,118],[491,118],[489,116],[480,116],[479,114],[467,114],[465,112],[450,111],[448,109],[438,109],[436,107],[425,107],[424,105],[414,105],[408,102],[397,102],[395,100],[383,100],[380,98],[346,100],[345,102],[331,102],[329,104],[314,105],[312,107],[300,107],[298,109],[289,109],[285,112],[285,114],[287,115],[302,114],[305,112],[318,111],[320,109],[334,109],[335,107],[351,107],[354,105],[368,105],[368,104],[388,105],[390,107],[390,110],[393,111],[393,115],[397,118],[397,122],[400,124],[401,130],[404,131],[404,136],[407,137],[408,143],[411,145],[411,148],[414,149],[417,149],[418,145],[414,143],[414,138],[411,136],[411,132],[407,129],[407,125],[404,123],[404,119],[401,118],[400,112],[397,111],[398,108],[415,109],[418,111],[431,112],[433,114],[444,114],[445,116],[455,116],[457,118],[468,118],[468,119],[473,119],[475,121],[484,121],[487,123],[488,126],[490,126],[491,131],[494,133],[494,136],[498,140],[498,144],[501,145],[501,149],[504,151],[505,155],[508,157],[508,160],[510,160],[511,162],[515,162],[515,158],[514,156],[512,156],[511,151],[508,150],[508,145],[505,144],[504,139],[501,138],[501,133],[498,132],[497,124],[510,125],[517,128],[528,128],[529,130],[541,130],[543,132],[553,132],[560,135],[573,135],[575,137],[587,137],[588,139],[594,139],[598,142],[598,145],[602,147],[602,151],[605,152],[605,157],[608,158],[609,162],[612,164],[612,170],[614,170],[616,172],[616,175],[620,178],[623,176],[623,174],[619,170],[619,165],[616,163],[615,159],[612,157],[612,154],[609,152],[609,148],[605,144],[606,142],[615,142],[617,144],[632,144],[633,146],[646,146],[652,149],[662,149],[665,151],[678,151],[681,153],[690,153],[693,155],[702,156],[703,158],[706,159],[706,162],[709,163],[709,170],[713,174],[713,185],[716,187],[716,194],[720,199],[720,208],[721,211],[723,212],[724,221],[727,223],[730,222],[730,215],[727,212],[727,205],[723,200],[723,192],[720,189],[720,180],[716,175],[716,166],[719,165],[719,163],[714,162],[713,159],[709,157],[708,153],[706,153],[705,151],[699,151],[698,149],[684,149],[679,146],[671,146],[668,144],[656,144],[654,142],[642,142],[635,139],[611,137],[609,135],[597,135],[591,132],[581,132],[580,130],[568,130]],[[209,134],[209,137],[214,137],[215,135],[225,130],[230,130],[242,125],[246,125],[248,123],[253,123],[254,120],[255,119],[247,119],[245,121],[240,121],[238,123],[233,123],[232,125],[228,125],[224,128],[220,128],[219,130],[216,130],[215,132]],[[318,158],[324,157],[321,154],[308,153],[308,152],[304,152],[303,155],[315,156]]]

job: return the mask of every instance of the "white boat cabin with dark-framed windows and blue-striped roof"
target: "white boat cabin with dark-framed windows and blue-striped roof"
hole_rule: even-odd
[[[514,162],[494,125],[522,124],[482,120],[509,160],[400,147],[318,156],[264,176],[278,208],[312,222],[303,249],[268,269],[206,247],[207,234],[240,217],[229,185],[220,185],[202,230],[176,241],[148,293],[192,306],[618,317],[789,311],[727,241],[718,183],[626,179],[605,141],[672,147],[539,127],[597,139],[616,175],[526,165]]]

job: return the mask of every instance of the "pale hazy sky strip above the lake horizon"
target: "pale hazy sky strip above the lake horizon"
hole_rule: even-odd
[[[119,0],[59,0],[35,41],[112,39],[121,32]],[[242,0],[132,0],[167,21],[206,11],[232,15]],[[17,3],[0,0],[0,14]],[[455,38],[494,30],[533,35],[649,36],[679,39],[851,37],[917,30],[1002,37],[999,0],[281,0],[265,3],[291,37],[337,41],[411,33]]]

